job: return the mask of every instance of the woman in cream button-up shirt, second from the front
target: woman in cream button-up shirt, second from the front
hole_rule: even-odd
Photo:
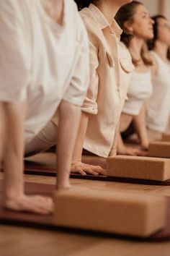
[[[81,124],[72,169],[81,174],[104,173],[99,166],[81,162],[82,149],[107,157],[116,154],[116,130],[125,103],[133,64],[120,43],[122,30],[114,20],[130,0],[76,0],[86,25],[90,46],[90,85],[82,106]]]

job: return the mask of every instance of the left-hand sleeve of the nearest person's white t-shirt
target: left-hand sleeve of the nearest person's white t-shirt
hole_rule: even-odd
[[[0,101],[23,101],[30,79],[19,1],[0,0]]]

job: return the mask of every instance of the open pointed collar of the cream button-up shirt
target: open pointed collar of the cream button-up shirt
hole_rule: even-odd
[[[102,12],[100,12],[100,10],[94,4],[89,5],[89,10],[93,14],[92,16],[94,17],[94,19],[97,20],[97,22],[102,30],[105,27],[109,27],[112,30],[112,32],[115,33],[118,38],[120,38],[120,35],[122,34],[122,29],[117,24],[115,19],[113,19],[112,24],[109,25],[109,22],[104,17],[104,14],[102,14]]]

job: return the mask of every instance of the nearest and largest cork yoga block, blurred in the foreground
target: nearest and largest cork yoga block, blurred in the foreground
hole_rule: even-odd
[[[97,189],[55,192],[53,223],[73,229],[147,237],[163,229],[164,197]]]

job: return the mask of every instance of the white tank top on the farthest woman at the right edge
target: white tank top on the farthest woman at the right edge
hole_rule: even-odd
[[[158,73],[153,85],[153,95],[151,96],[146,115],[146,125],[149,129],[158,132],[166,132],[170,112],[170,64],[167,64],[151,51],[158,65]]]

